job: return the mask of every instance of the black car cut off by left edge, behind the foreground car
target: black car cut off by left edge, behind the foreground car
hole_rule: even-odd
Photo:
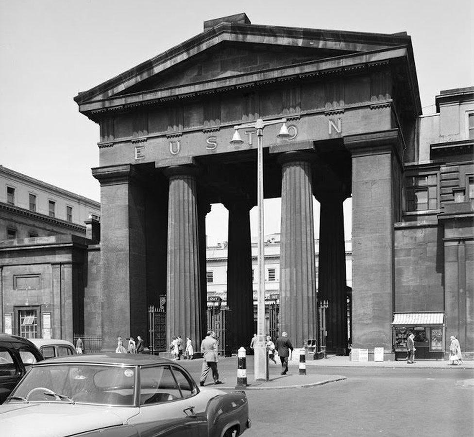
[[[43,356],[23,337],[0,333],[0,403],[3,403],[31,365]]]

